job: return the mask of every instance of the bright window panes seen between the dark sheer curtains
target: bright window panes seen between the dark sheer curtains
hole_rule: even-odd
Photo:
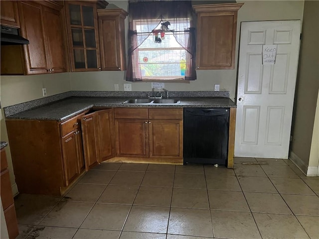
[[[167,19],[172,20],[172,19]],[[148,21],[150,23],[150,21]],[[134,21],[138,34],[138,65],[143,80],[184,80],[186,70],[186,50],[176,41],[173,32],[166,31],[164,36],[148,32],[147,21]],[[152,20],[155,32],[161,29],[159,21]],[[189,29],[189,21],[178,23],[179,28]],[[153,27],[152,26],[152,27]],[[183,32],[176,32],[181,35]],[[159,36],[158,36],[159,35]],[[160,38],[160,43],[156,39]],[[183,43],[185,44],[185,43]]]

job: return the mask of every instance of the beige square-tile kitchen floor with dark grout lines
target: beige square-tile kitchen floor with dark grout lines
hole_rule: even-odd
[[[20,194],[15,206],[18,239],[319,239],[319,177],[280,159],[102,163],[64,197]]]

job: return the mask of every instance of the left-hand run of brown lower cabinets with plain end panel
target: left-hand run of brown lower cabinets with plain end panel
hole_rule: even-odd
[[[87,113],[63,122],[6,120],[20,193],[62,195],[84,170],[115,155],[113,109]]]

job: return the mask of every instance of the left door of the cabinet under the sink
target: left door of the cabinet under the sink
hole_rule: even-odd
[[[115,119],[116,155],[148,157],[148,135],[147,119]]]

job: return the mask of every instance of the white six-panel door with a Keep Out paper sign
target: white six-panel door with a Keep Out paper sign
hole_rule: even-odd
[[[235,156],[288,158],[300,45],[300,20],[242,22]],[[274,65],[262,46],[277,45]]]

